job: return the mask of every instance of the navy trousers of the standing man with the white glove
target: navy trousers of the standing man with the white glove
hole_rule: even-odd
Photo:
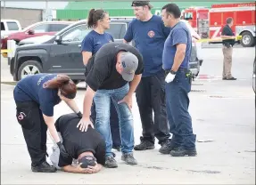
[[[191,77],[186,76],[186,72],[186,69],[179,68],[174,80],[166,83],[167,114],[169,132],[173,133],[172,144],[185,149],[194,149],[196,136],[188,112]]]

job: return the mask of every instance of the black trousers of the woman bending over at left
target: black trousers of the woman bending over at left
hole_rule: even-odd
[[[47,125],[36,102],[16,101],[16,117],[21,125],[27,143],[32,165],[40,165],[45,161]]]

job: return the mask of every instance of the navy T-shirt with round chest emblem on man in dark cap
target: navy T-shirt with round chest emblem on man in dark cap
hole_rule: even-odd
[[[160,16],[153,15],[148,21],[132,20],[124,39],[134,40],[136,48],[141,52],[144,60],[143,76],[152,76],[162,69],[162,50],[164,41],[169,36]]]

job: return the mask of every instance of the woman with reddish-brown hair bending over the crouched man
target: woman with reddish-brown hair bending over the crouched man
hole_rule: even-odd
[[[61,101],[78,117],[82,117],[76,102],[77,86],[69,76],[38,74],[21,79],[13,90],[16,117],[31,158],[32,172],[54,173],[56,168],[46,162],[47,129],[57,143],[62,157],[69,157],[54,125],[54,106]]]

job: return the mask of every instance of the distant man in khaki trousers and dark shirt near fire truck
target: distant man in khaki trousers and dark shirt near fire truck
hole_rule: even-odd
[[[222,79],[223,80],[236,80],[234,76],[231,75],[231,67],[232,67],[232,53],[233,46],[235,44],[235,35],[231,29],[233,25],[233,18],[229,17],[226,20],[227,25],[223,28],[221,33],[222,40],[222,52],[224,55],[223,60],[223,72]]]

